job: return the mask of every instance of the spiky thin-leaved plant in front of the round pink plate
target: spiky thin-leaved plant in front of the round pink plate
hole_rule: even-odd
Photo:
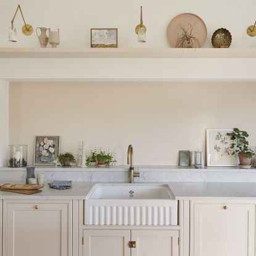
[[[178,31],[181,30],[181,34],[178,35],[178,39],[176,41],[176,48],[192,48],[192,47],[200,47],[199,39],[194,36],[192,33],[193,26],[191,24],[188,25],[187,28],[183,26],[178,27]]]

